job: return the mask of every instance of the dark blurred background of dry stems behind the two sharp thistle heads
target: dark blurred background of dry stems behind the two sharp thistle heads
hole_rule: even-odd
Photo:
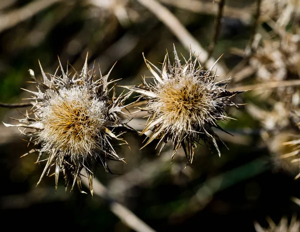
[[[160,67],[166,49],[173,59],[173,43],[184,57],[191,44],[204,63],[205,51],[214,61],[222,55],[217,74],[233,77],[228,89],[253,89],[232,99],[246,103],[227,109],[237,120],[219,122],[234,135],[217,131],[228,147],[219,144],[220,157],[213,147],[210,151],[202,144],[191,165],[186,167],[183,150],[170,164],[171,144],[156,156],[157,141],[139,150],[145,137],[126,133],[130,149],[119,146],[116,151],[127,164],[109,162],[114,175],[98,168],[95,181],[101,184],[99,194],[95,187],[93,199],[77,188],[65,192],[62,178],[55,193],[54,176],[44,177],[35,187],[44,163],[34,164],[35,153],[20,158],[32,147],[27,147],[17,128],[1,123],[3,228],[135,231],[113,213],[111,199],[157,232],[193,228],[255,232],[255,221],[267,228],[266,217],[278,224],[284,216],[290,220],[297,215],[300,207],[291,199],[300,198],[299,181],[294,180],[299,173],[298,147],[283,142],[299,137],[295,113],[300,99],[299,8],[298,0],[1,0],[2,103],[28,102],[21,100],[30,97],[21,88],[35,88],[27,83],[28,69],[39,76],[38,60],[52,74],[57,56],[64,68],[68,61],[80,70],[88,52],[89,65],[95,61],[106,74],[117,61],[110,77],[121,78],[118,85],[134,85],[141,76],[151,75],[142,52]],[[155,15],[159,12],[164,13]],[[181,27],[186,31],[178,32]],[[185,33],[195,41],[185,39]],[[9,117],[22,115],[16,109],[0,108],[0,121],[11,123]],[[137,116],[130,125],[141,130],[141,123],[145,119]],[[101,197],[101,185],[108,200]]]

